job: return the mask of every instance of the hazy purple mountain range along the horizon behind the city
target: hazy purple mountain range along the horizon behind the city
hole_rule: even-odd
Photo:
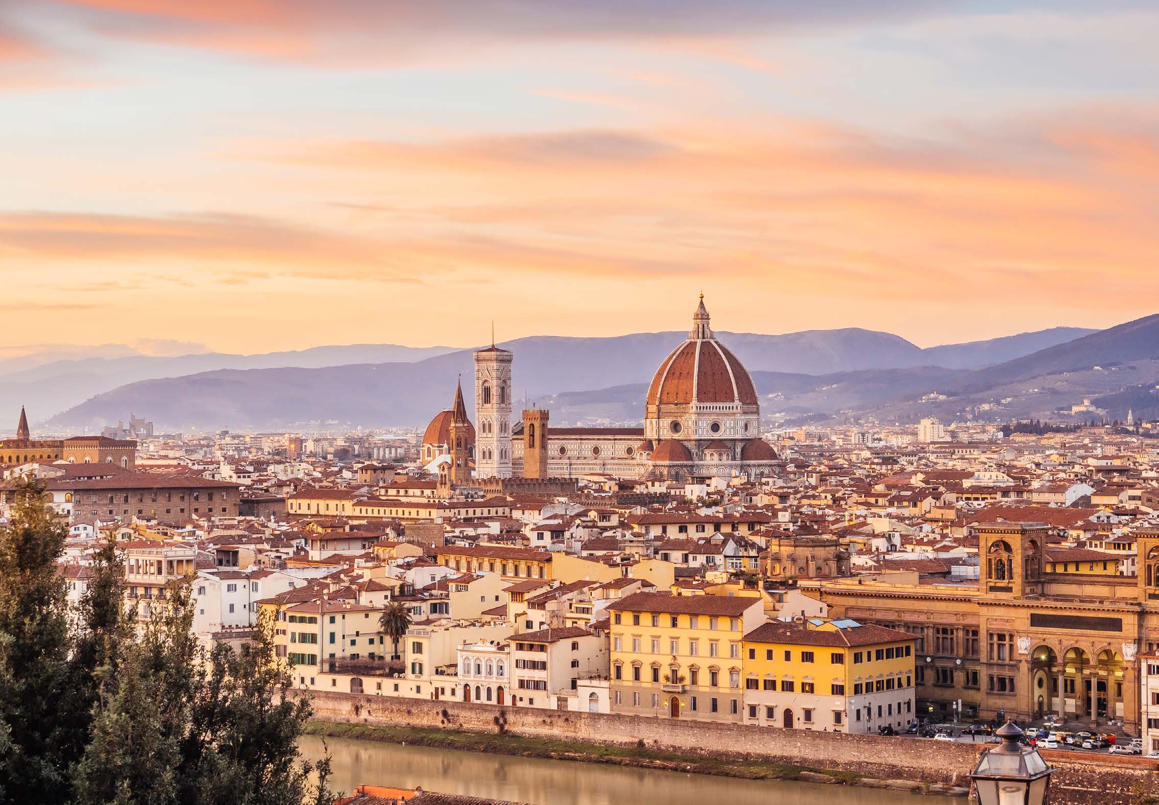
[[[1149,319],[1105,331],[1054,328],[928,349],[861,329],[717,337],[753,373],[765,414],[881,409],[876,412],[889,417],[920,414],[906,405],[927,391],[954,391],[953,404],[972,405],[989,387],[1059,371],[1066,360],[1078,367],[1109,364],[1111,356],[1152,357],[1144,353],[1159,350],[1157,329]],[[502,346],[516,354],[516,396],[549,407],[553,422],[632,422],[642,416],[655,367],[685,337],[683,331],[533,336]],[[0,375],[0,405],[15,410],[35,398],[41,404],[30,407],[34,422],[46,418],[42,412],[60,411],[46,423],[58,432],[92,432],[127,419],[130,411],[165,431],[421,427],[451,402],[460,374],[469,385],[471,350],[355,345],[261,356],[80,358]],[[1107,386],[1093,394],[1114,390]]]

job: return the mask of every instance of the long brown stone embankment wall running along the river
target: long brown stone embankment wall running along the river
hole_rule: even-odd
[[[298,693],[298,691],[293,691]],[[309,694],[299,694],[309,695]],[[712,724],[671,718],[569,710],[537,710],[494,704],[418,701],[389,696],[314,691],[315,718],[356,724],[414,726],[531,738],[564,738],[589,744],[635,746],[724,759],[760,759],[868,777],[968,785],[983,744],[936,745],[928,740],[882,738],[808,730]],[[1159,762],[1123,755],[1043,752],[1057,770],[1051,805],[1139,805],[1159,796]]]

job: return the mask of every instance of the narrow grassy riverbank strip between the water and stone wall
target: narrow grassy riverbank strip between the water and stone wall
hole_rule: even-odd
[[[681,755],[672,752],[649,749],[647,746],[606,746],[581,744],[549,738],[525,738],[522,736],[487,734],[459,730],[433,730],[407,726],[372,726],[369,724],[343,724],[336,722],[311,722],[306,733],[334,738],[357,738],[388,744],[431,746],[467,752],[489,752],[523,758],[549,758],[588,763],[613,763],[640,768],[668,769],[693,774],[712,774],[745,780],[800,780],[838,784],[863,784],[860,775],[847,771],[809,769],[803,766],[787,766],[760,761],[736,761]]]

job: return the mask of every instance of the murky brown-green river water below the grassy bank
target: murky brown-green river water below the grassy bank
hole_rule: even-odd
[[[780,781],[634,769],[602,763],[493,755],[327,738],[334,758],[331,788],[391,785],[533,805],[963,805],[962,798]],[[316,760],[322,739],[304,736],[302,754]]]

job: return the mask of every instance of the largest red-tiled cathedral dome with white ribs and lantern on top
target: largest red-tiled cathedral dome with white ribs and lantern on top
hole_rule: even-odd
[[[724,403],[757,405],[748,369],[716,341],[701,295],[688,338],[664,359],[648,387],[648,405]]]

